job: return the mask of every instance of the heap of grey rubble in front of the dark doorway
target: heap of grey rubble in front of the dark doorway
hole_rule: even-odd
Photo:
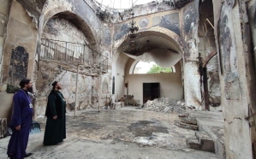
[[[174,113],[184,114],[186,112],[185,103],[178,101],[170,97],[160,97],[152,101],[148,100],[141,109],[163,112],[163,113]]]

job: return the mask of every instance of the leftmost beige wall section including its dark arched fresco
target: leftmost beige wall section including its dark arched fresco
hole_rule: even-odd
[[[3,3],[6,5],[5,9],[9,9],[8,2]],[[19,87],[21,79],[33,79],[37,27],[33,18],[27,14],[27,10],[15,0],[10,4],[9,16],[6,18],[5,22],[8,21],[8,24],[6,36],[3,37],[3,56],[1,56],[3,66],[0,100],[5,101],[3,107],[9,111],[8,113],[1,111],[4,113],[1,117],[7,117],[9,122],[13,92]]]

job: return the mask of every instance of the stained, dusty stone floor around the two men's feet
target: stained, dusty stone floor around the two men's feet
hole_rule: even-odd
[[[30,158],[216,158],[214,153],[192,150],[185,139],[192,130],[176,127],[175,114],[125,107],[80,110],[67,114],[67,138],[44,146],[44,130],[30,135]],[[43,127],[44,128],[44,127]],[[0,158],[7,158],[9,137],[0,139]]]

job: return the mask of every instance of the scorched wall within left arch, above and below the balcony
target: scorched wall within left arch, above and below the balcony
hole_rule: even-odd
[[[56,43],[78,43],[89,44],[86,36],[79,28],[64,18],[51,18],[45,25],[42,38],[57,40]],[[63,42],[61,42],[63,41]],[[65,44],[64,44],[65,45]],[[74,44],[75,45],[75,44]],[[68,110],[74,110],[75,105],[75,84],[76,73],[70,72],[57,66],[54,63],[39,63],[37,79],[38,96],[38,115],[45,115],[45,103],[51,91],[51,83],[55,80],[60,81],[63,86],[63,96],[66,98]],[[86,109],[90,104],[96,104],[98,97],[99,78],[79,74],[78,106],[77,109]]]

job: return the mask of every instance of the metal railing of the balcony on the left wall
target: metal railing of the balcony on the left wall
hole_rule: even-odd
[[[88,44],[42,38],[39,58],[71,65],[85,65],[106,73],[108,57],[92,50]]]

